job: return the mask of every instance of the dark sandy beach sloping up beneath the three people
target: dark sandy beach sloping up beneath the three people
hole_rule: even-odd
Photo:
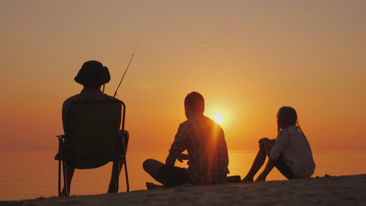
[[[366,205],[366,174],[2,201],[5,205]]]

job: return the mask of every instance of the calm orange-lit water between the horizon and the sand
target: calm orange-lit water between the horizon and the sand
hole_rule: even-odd
[[[56,151],[54,149],[0,151],[0,200],[57,196],[58,161],[53,160]],[[249,171],[255,155],[256,152],[229,151],[230,175],[240,175],[243,178]],[[317,165],[314,177],[325,174],[339,176],[366,173],[366,152],[314,152],[313,155]],[[127,169],[130,191],[145,190],[146,181],[156,183],[142,169],[142,162],[145,159],[153,158],[164,162],[166,156],[166,152],[129,151]],[[186,161],[177,163],[177,166],[187,167]],[[75,170],[71,195],[104,194],[108,189],[111,169],[112,163],[97,169]],[[122,170],[119,192],[126,191],[124,177]],[[274,169],[267,180],[284,179]]]

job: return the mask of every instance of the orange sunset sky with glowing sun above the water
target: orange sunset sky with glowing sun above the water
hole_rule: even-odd
[[[113,95],[140,41],[117,96],[130,150],[168,151],[191,91],[229,150],[274,138],[284,105],[314,151],[363,150],[365,19],[362,0],[1,1],[0,149],[57,147],[82,63],[109,68]]]

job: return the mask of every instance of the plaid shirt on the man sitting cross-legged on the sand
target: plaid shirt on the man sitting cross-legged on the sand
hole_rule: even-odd
[[[203,114],[179,125],[169,152],[176,158],[187,150],[188,174],[197,185],[227,182],[229,157],[224,130]]]

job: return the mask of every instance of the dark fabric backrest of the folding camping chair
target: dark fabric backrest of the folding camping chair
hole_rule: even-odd
[[[118,112],[121,104],[119,100],[82,100],[74,103],[74,128],[67,136],[72,142],[69,158],[76,164],[75,168],[96,168],[116,157],[118,130],[120,122],[124,123]],[[77,166],[81,163],[84,166]]]

